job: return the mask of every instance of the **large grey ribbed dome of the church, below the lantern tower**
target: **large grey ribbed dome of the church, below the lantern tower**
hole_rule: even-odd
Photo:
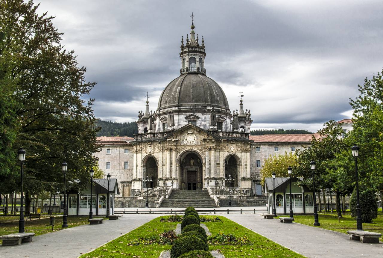
[[[159,112],[166,108],[206,108],[229,111],[228,99],[221,87],[204,74],[182,74],[162,91],[158,102]]]

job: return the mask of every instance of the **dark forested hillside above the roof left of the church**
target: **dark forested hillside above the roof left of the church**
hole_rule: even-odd
[[[97,133],[97,136],[130,136],[138,133],[138,127],[136,122],[119,123],[112,121],[105,121],[99,119],[97,125],[101,127],[101,130]]]

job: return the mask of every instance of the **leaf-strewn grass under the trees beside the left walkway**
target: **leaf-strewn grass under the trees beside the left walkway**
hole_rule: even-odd
[[[16,217],[18,220],[19,217],[18,216],[16,216]],[[48,218],[49,217],[46,217],[45,219],[37,219],[37,220],[25,219],[25,232],[34,232],[34,233],[36,233],[36,235],[51,233],[52,232],[52,226],[49,225],[49,219]],[[89,219],[88,217],[67,217],[68,228],[87,224],[87,223],[89,223],[88,219]],[[107,219],[107,218],[104,218],[104,219]],[[62,226],[62,216],[57,216],[55,225],[53,227],[53,231],[64,229],[61,226]],[[18,232],[19,232],[19,222],[18,221],[0,223],[0,235],[7,235],[7,234],[11,234],[11,233],[18,233]],[[2,243],[2,240],[0,240],[0,243]]]

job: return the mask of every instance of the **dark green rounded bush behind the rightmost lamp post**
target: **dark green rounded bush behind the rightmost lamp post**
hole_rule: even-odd
[[[360,214],[363,223],[372,223],[378,217],[378,204],[375,194],[370,189],[359,188]],[[350,212],[352,217],[357,216],[357,191],[356,187],[350,197]]]

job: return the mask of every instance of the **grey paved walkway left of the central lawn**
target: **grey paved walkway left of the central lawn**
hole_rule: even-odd
[[[100,225],[82,225],[39,235],[33,237],[31,243],[0,246],[0,257],[75,258],[159,216],[124,215],[118,220],[105,220]]]

